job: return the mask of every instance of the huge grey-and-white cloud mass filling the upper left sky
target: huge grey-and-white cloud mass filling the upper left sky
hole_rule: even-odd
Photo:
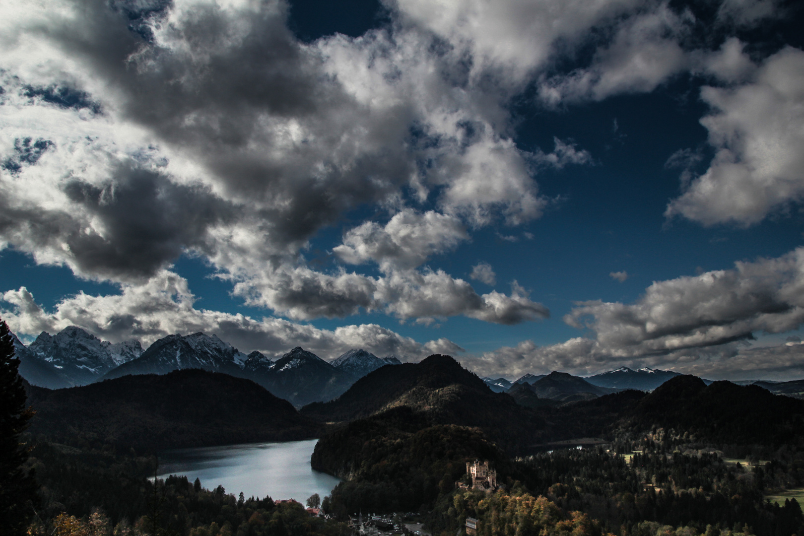
[[[538,218],[537,167],[589,153],[559,140],[552,153],[519,149],[506,91],[466,86],[465,62],[429,31],[401,24],[305,44],[287,10],[281,0],[4,6],[0,247],[125,284],[189,252],[249,303],[297,318],[544,314],[523,296],[480,297],[443,272],[410,270],[469,240],[467,226]],[[396,279],[315,272],[299,255],[346,211],[406,202],[437,210],[397,209],[334,248]],[[461,298],[416,297],[437,288]]]

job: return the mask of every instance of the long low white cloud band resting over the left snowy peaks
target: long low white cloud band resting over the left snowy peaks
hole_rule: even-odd
[[[44,311],[24,287],[0,296],[10,305],[10,309],[0,311],[3,319],[15,332],[31,335],[78,325],[108,341],[137,338],[147,346],[170,333],[203,331],[215,333],[247,353],[260,350],[277,356],[293,346],[303,346],[323,358],[334,358],[351,348],[406,359],[424,358],[436,351],[462,351],[445,338],[420,344],[375,324],[328,330],[281,318],[257,320],[242,314],[196,309],[187,280],[169,271],[159,272],[146,284],[124,284],[117,295],[93,297],[80,293],[65,298],[55,305],[54,313]]]

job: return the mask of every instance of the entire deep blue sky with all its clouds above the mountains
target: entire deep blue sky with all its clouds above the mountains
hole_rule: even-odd
[[[0,317],[804,378],[804,9],[0,0]]]

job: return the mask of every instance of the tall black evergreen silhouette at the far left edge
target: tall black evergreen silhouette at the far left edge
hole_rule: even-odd
[[[25,407],[18,367],[14,339],[6,322],[0,320],[0,527],[4,534],[25,534],[36,500],[33,475],[23,468],[29,449],[20,443],[20,434],[34,412]]]

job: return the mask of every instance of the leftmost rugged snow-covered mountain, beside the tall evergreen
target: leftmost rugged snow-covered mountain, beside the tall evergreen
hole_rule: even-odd
[[[138,341],[112,344],[101,341],[75,325],[52,336],[44,331],[39,333],[39,337],[31,342],[28,350],[54,366],[68,385],[95,382],[109,370],[142,354],[142,346]]]

